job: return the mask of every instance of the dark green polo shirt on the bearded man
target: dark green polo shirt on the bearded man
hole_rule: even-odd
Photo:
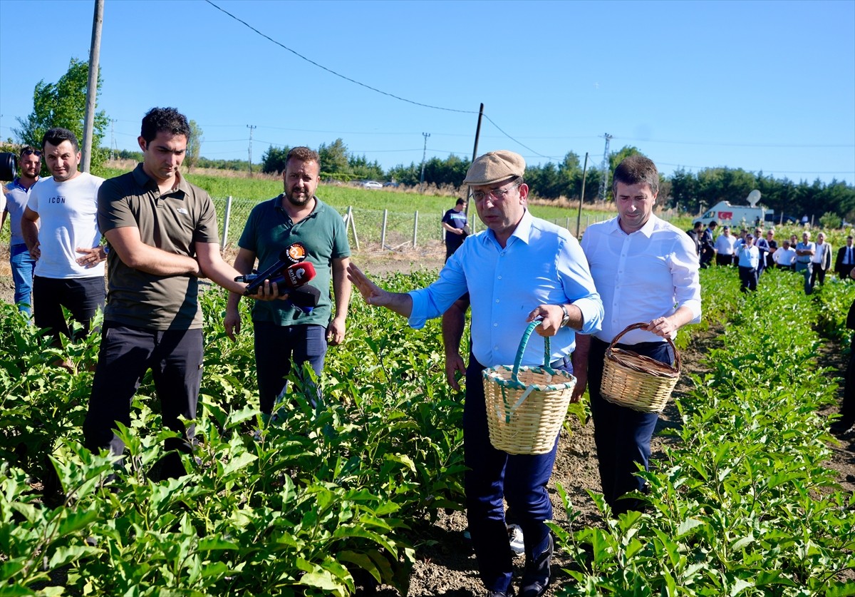
[[[317,324],[326,327],[333,313],[329,292],[333,259],[351,256],[345,221],[338,211],[315,197],[315,209],[295,224],[282,208],[282,199],[280,195],[252,209],[238,245],[254,252],[258,257],[258,270],[264,271],[279,261],[286,246],[302,243],[306,247],[306,260],[315,266],[315,278],[309,283],[321,291],[321,299],[308,314],[285,300],[257,300],[252,307],[252,319],[281,326]]]

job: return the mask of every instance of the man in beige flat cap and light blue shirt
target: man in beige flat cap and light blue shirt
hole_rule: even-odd
[[[472,163],[463,184],[486,230],[469,236],[439,272],[439,280],[410,293],[388,293],[351,264],[348,275],[368,304],[384,306],[422,328],[469,293],[472,350],[466,369],[463,446],[467,516],[481,580],[487,595],[513,595],[512,554],[504,523],[504,502],[522,527],[526,566],[520,595],[544,594],[550,582],[552,538],[544,521],[552,517],[546,483],[551,452],[512,455],[494,448],[487,430],[481,371],[514,363],[528,322],[542,318],[522,365],[542,365],[544,340],[551,337],[550,364],[572,371],[576,332],[593,334],[603,304],[579,243],[567,230],[535,218],[527,209],[525,161],[511,151],[492,151]],[[459,335],[459,334],[458,334]]]

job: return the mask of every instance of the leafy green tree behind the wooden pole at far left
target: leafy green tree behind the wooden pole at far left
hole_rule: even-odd
[[[86,86],[89,82],[89,63],[72,58],[68,71],[56,83],[38,81],[32,93],[32,113],[26,119],[18,118],[21,128],[12,130],[22,144],[40,147],[44,133],[52,127],[68,128],[83,143],[83,121],[86,112]],[[98,73],[97,92],[101,90],[101,74]],[[97,105],[96,92],[96,105]],[[95,113],[92,131],[91,167],[100,167],[107,158],[107,150],[101,146],[107,130],[107,113]]]

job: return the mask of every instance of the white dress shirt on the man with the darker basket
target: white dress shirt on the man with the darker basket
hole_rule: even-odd
[[[627,234],[618,219],[592,224],[581,239],[605,316],[595,334],[610,342],[632,323],[651,322],[688,307],[700,322],[699,262],[694,242],[680,228],[651,215],[638,231]],[[664,341],[633,330],[622,344]]]

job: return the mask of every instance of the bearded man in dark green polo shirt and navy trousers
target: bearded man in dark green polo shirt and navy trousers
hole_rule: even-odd
[[[315,197],[320,174],[321,158],[315,151],[308,147],[289,151],[283,174],[285,191],[251,211],[234,259],[234,269],[249,274],[258,257],[262,271],[279,261],[283,249],[299,243],[305,248],[306,260],[315,267],[315,278],[309,283],[321,293],[310,313],[287,300],[257,301],[252,307],[258,393],[261,410],[267,415],[285,390],[292,362],[300,368],[309,363],[315,374],[321,375],[327,344],[337,345],[345,339],[351,300],[351,281],[347,278],[351,247],[339,213]],[[331,274],[334,316],[329,293]],[[275,295],[266,289],[259,296],[269,299]],[[240,297],[239,293],[229,295],[223,322],[232,340],[240,332]]]

